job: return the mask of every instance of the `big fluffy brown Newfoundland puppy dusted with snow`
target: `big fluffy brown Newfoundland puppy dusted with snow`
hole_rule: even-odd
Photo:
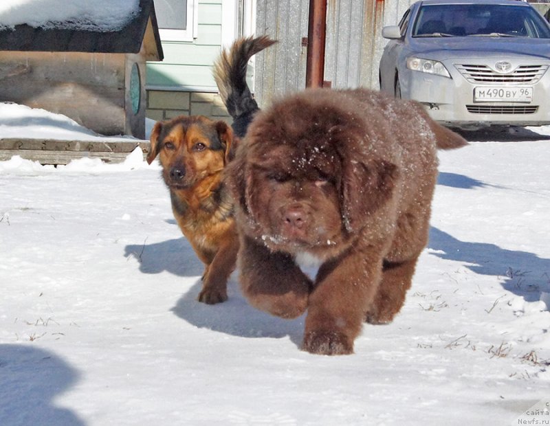
[[[304,350],[353,352],[365,320],[391,322],[404,303],[437,148],[465,143],[420,104],[364,89],[309,89],[259,112],[225,170],[250,303],[307,310]]]

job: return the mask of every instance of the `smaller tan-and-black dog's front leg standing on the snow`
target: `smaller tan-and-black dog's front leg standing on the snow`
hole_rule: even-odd
[[[220,238],[219,248],[203,276],[203,287],[198,300],[206,304],[216,304],[228,300],[227,284],[235,269],[239,251],[239,237],[234,226]]]

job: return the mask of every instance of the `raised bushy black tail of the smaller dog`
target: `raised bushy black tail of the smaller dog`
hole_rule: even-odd
[[[239,137],[245,135],[254,113],[259,110],[246,83],[248,60],[274,43],[276,41],[268,36],[239,38],[229,50],[223,50],[214,63],[214,80],[225,108],[233,117],[233,131]]]

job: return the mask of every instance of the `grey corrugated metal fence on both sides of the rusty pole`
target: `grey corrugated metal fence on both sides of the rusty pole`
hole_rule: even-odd
[[[279,43],[256,58],[256,99],[305,88],[309,0],[257,0],[256,34]],[[327,0],[325,80],[333,88],[378,89],[378,63],[386,40],[384,25],[395,25],[414,0]]]

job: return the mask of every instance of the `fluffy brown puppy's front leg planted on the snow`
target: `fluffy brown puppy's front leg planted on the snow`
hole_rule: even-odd
[[[302,349],[320,355],[351,354],[381,273],[382,258],[375,249],[353,251],[323,265],[309,296]]]

